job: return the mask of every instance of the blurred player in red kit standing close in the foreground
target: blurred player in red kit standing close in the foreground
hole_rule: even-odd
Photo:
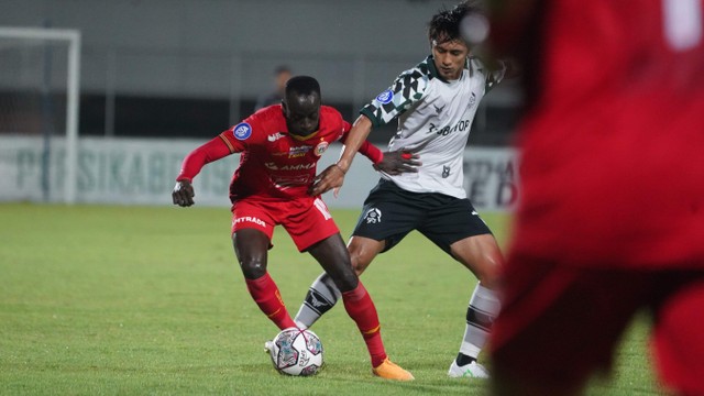
[[[492,333],[499,395],[579,394],[641,310],[662,381],[704,395],[702,0],[495,0],[527,113]]]

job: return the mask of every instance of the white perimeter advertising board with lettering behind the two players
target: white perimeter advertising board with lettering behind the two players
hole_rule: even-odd
[[[202,144],[195,140],[142,140],[81,138],[78,142],[76,202],[118,205],[172,205],[170,190],[184,156]],[[47,165],[42,158],[42,139],[0,136],[0,201],[62,201],[67,180],[65,142],[52,140]],[[324,169],[339,156],[332,145],[320,163]],[[239,155],[206,165],[195,180],[196,204],[229,206],[228,186]],[[510,148],[470,147],[464,154],[464,187],[479,210],[512,210],[517,199],[516,155]],[[43,175],[47,169],[47,175]],[[366,157],[359,155],[340,196],[326,194],[331,208],[356,209],[378,175]],[[46,199],[45,199],[46,198]]]

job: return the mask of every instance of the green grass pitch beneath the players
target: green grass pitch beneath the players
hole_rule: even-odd
[[[349,235],[358,212],[333,216]],[[229,239],[227,208],[0,205],[2,395],[484,395],[448,378],[475,278],[417,233],[362,279],[391,358],[416,376],[371,374],[354,323],[334,308],[314,330],[327,366],[278,375],[263,351],[277,329],[251,300]],[[485,215],[502,244],[509,218]],[[268,267],[293,315],[317,263],[283,229]],[[620,348],[608,381],[587,394],[661,394],[647,320]],[[588,340],[585,340],[588,342]],[[491,362],[482,356],[487,365]],[[539,364],[539,363],[537,363]]]

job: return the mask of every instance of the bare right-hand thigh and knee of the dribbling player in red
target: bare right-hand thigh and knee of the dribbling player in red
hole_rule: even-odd
[[[352,268],[350,254],[340,233],[314,244],[308,249],[308,253],[320,263],[340,292],[345,293],[356,288],[359,278]]]

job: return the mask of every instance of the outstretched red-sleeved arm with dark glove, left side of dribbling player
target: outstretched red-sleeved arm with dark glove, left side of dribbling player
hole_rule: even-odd
[[[230,132],[230,130],[222,132],[217,138],[186,155],[180,172],[176,177],[176,186],[174,186],[174,190],[172,191],[174,205],[180,207],[194,205],[194,197],[196,196],[191,184],[194,177],[200,173],[200,169],[202,169],[206,164],[234,153],[234,147],[232,147],[232,144],[229,144],[224,135],[228,132]]]

